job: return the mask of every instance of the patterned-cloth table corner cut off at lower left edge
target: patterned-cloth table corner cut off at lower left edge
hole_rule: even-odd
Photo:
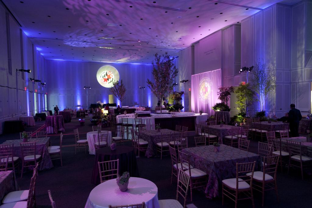
[[[8,193],[17,190],[18,186],[13,171],[0,171],[0,201]]]

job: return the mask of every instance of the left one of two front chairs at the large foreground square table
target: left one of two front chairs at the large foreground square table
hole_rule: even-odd
[[[235,208],[237,207],[238,200],[250,199],[252,207],[255,207],[253,194],[252,194],[252,180],[255,170],[254,162],[249,163],[236,163],[236,178],[229,178],[222,180],[222,205],[224,204],[224,196],[235,202]],[[251,173],[247,176],[247,173]],[[238,196],[244,193],[244,198],[239,199]]]

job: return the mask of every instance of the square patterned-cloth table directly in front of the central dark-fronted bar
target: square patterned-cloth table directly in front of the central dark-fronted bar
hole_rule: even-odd
[[[173,130],[170,129],[160,129],[160,132],[157,130],[146,130],[146,131],[140,131],[139,132],[139,138],[144,139],[145,141],[149,142],[149,145],[147,146],[147,150],[145,153],[146,157],[152,157],[156,156],[156,144],[158,142],[161,142],[161,133],[162,132],[171,132],[170,139],[173,139]]]

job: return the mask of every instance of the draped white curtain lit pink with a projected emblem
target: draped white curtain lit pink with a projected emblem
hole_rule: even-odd
[[[218,87],[221,86],[221,69],[194,74],[191,78],[191,105],[195,113],[200,110],[214,114],[212,106],[221,102],[218,99]]]

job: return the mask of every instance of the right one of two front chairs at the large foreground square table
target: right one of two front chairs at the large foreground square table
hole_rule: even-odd
[[[263,172],[255,171],[253,174],[252,188],[262,193],[262,206],[264,205],[264,192],[267,190],[274,189],[277,201],[279,201],[276,183],[276,173],[279,157],[279,155],[264,157]],[[247,173],[246,175],[251,175],[251,173]]]

